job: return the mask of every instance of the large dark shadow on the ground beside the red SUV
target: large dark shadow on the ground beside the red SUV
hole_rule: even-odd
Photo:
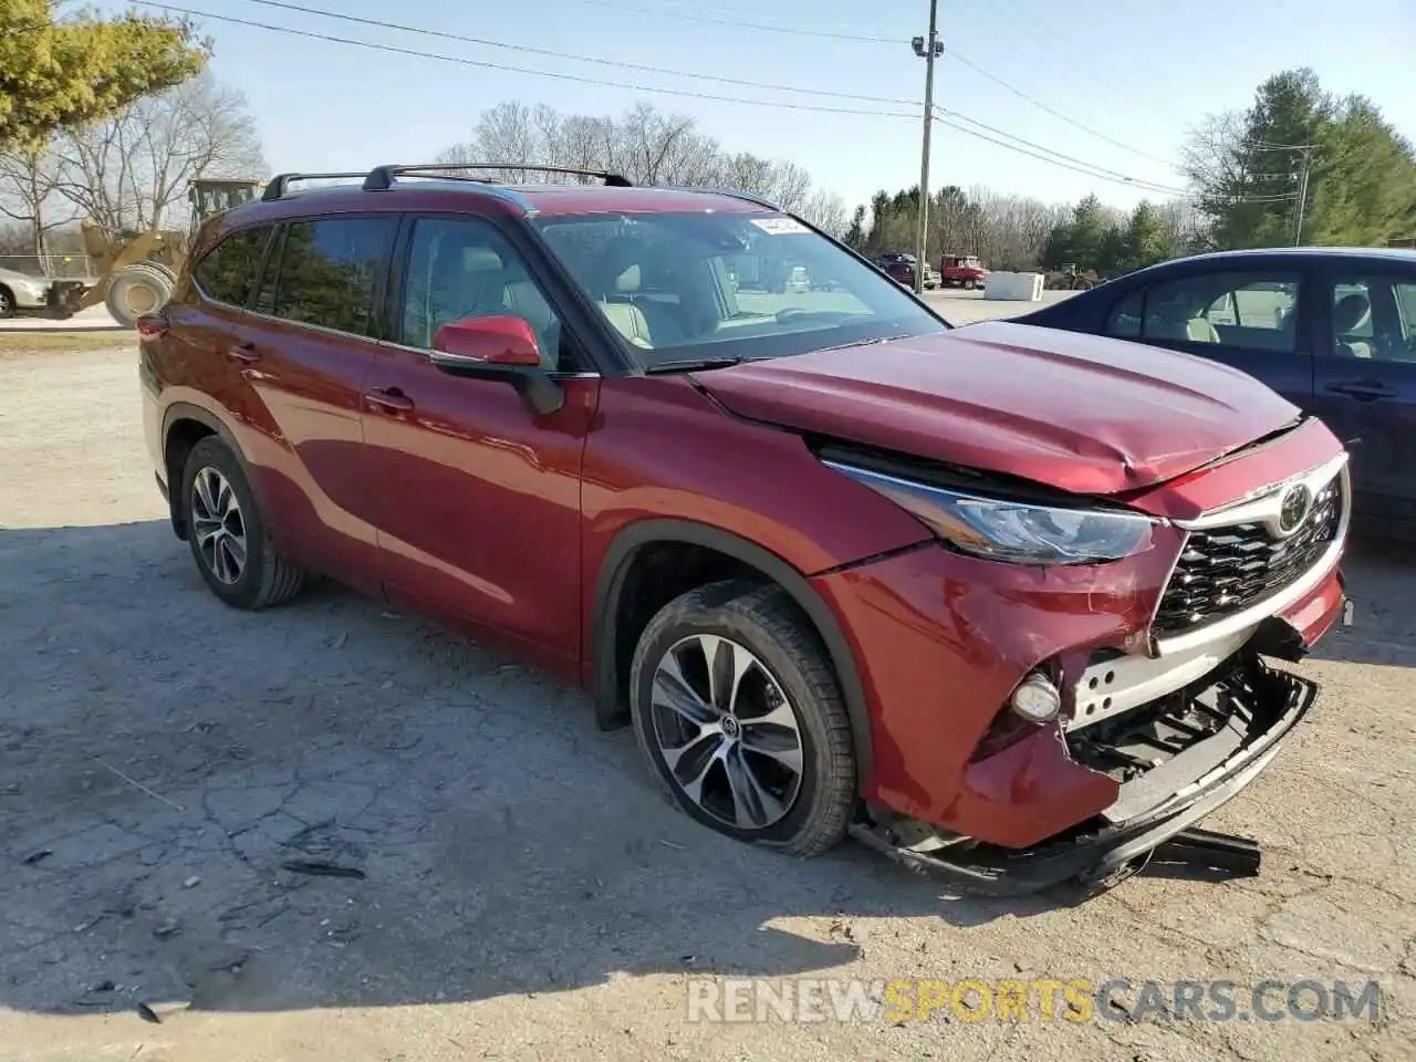
[[[862,920],[1082,901],[729,841],[582,692],[329,583],[228,609],[163,521],[0,531],[0,1007],[787,976],[855,959]]]

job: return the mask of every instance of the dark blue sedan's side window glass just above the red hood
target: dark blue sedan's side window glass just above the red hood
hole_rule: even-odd
[[[1201,273],[1146,289],[1141,338],[1297,350],[1298,278]]]

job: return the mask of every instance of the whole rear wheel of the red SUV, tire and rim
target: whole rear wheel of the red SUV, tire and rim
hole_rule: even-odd
[[[191,447],[181,498],[193,559],[227,605],[265,609],[304,585],[304,572],[272,549],[245,470],[215,436]]]

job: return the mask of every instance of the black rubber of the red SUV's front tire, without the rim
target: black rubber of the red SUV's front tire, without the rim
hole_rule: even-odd
[[[786,814],[765,828],[741,828],[711,816],[684,792],[660,750],[651,708],[654,671],[673,646],[694,634],[715,634],[748,649],[792,705],[803,770]],[[704,826],[799,857],[820,855],[845,834],[858,796],[845,700],[826,649],[782,588],[712,583],[660,609],[634,649],[630,714],[640,752],[664,794]]]

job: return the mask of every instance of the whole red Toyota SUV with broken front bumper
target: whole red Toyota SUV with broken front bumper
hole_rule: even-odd
[[[202,228],[140,365],[218,598],[319,572],[500,637],[705,826],[986,889],[1124,871],[1267,765],[1315,687],[1263,657],[1347,619],[1321,422],[593,176],[285,176]],[[830,283],[735,279],[786,262]]]

